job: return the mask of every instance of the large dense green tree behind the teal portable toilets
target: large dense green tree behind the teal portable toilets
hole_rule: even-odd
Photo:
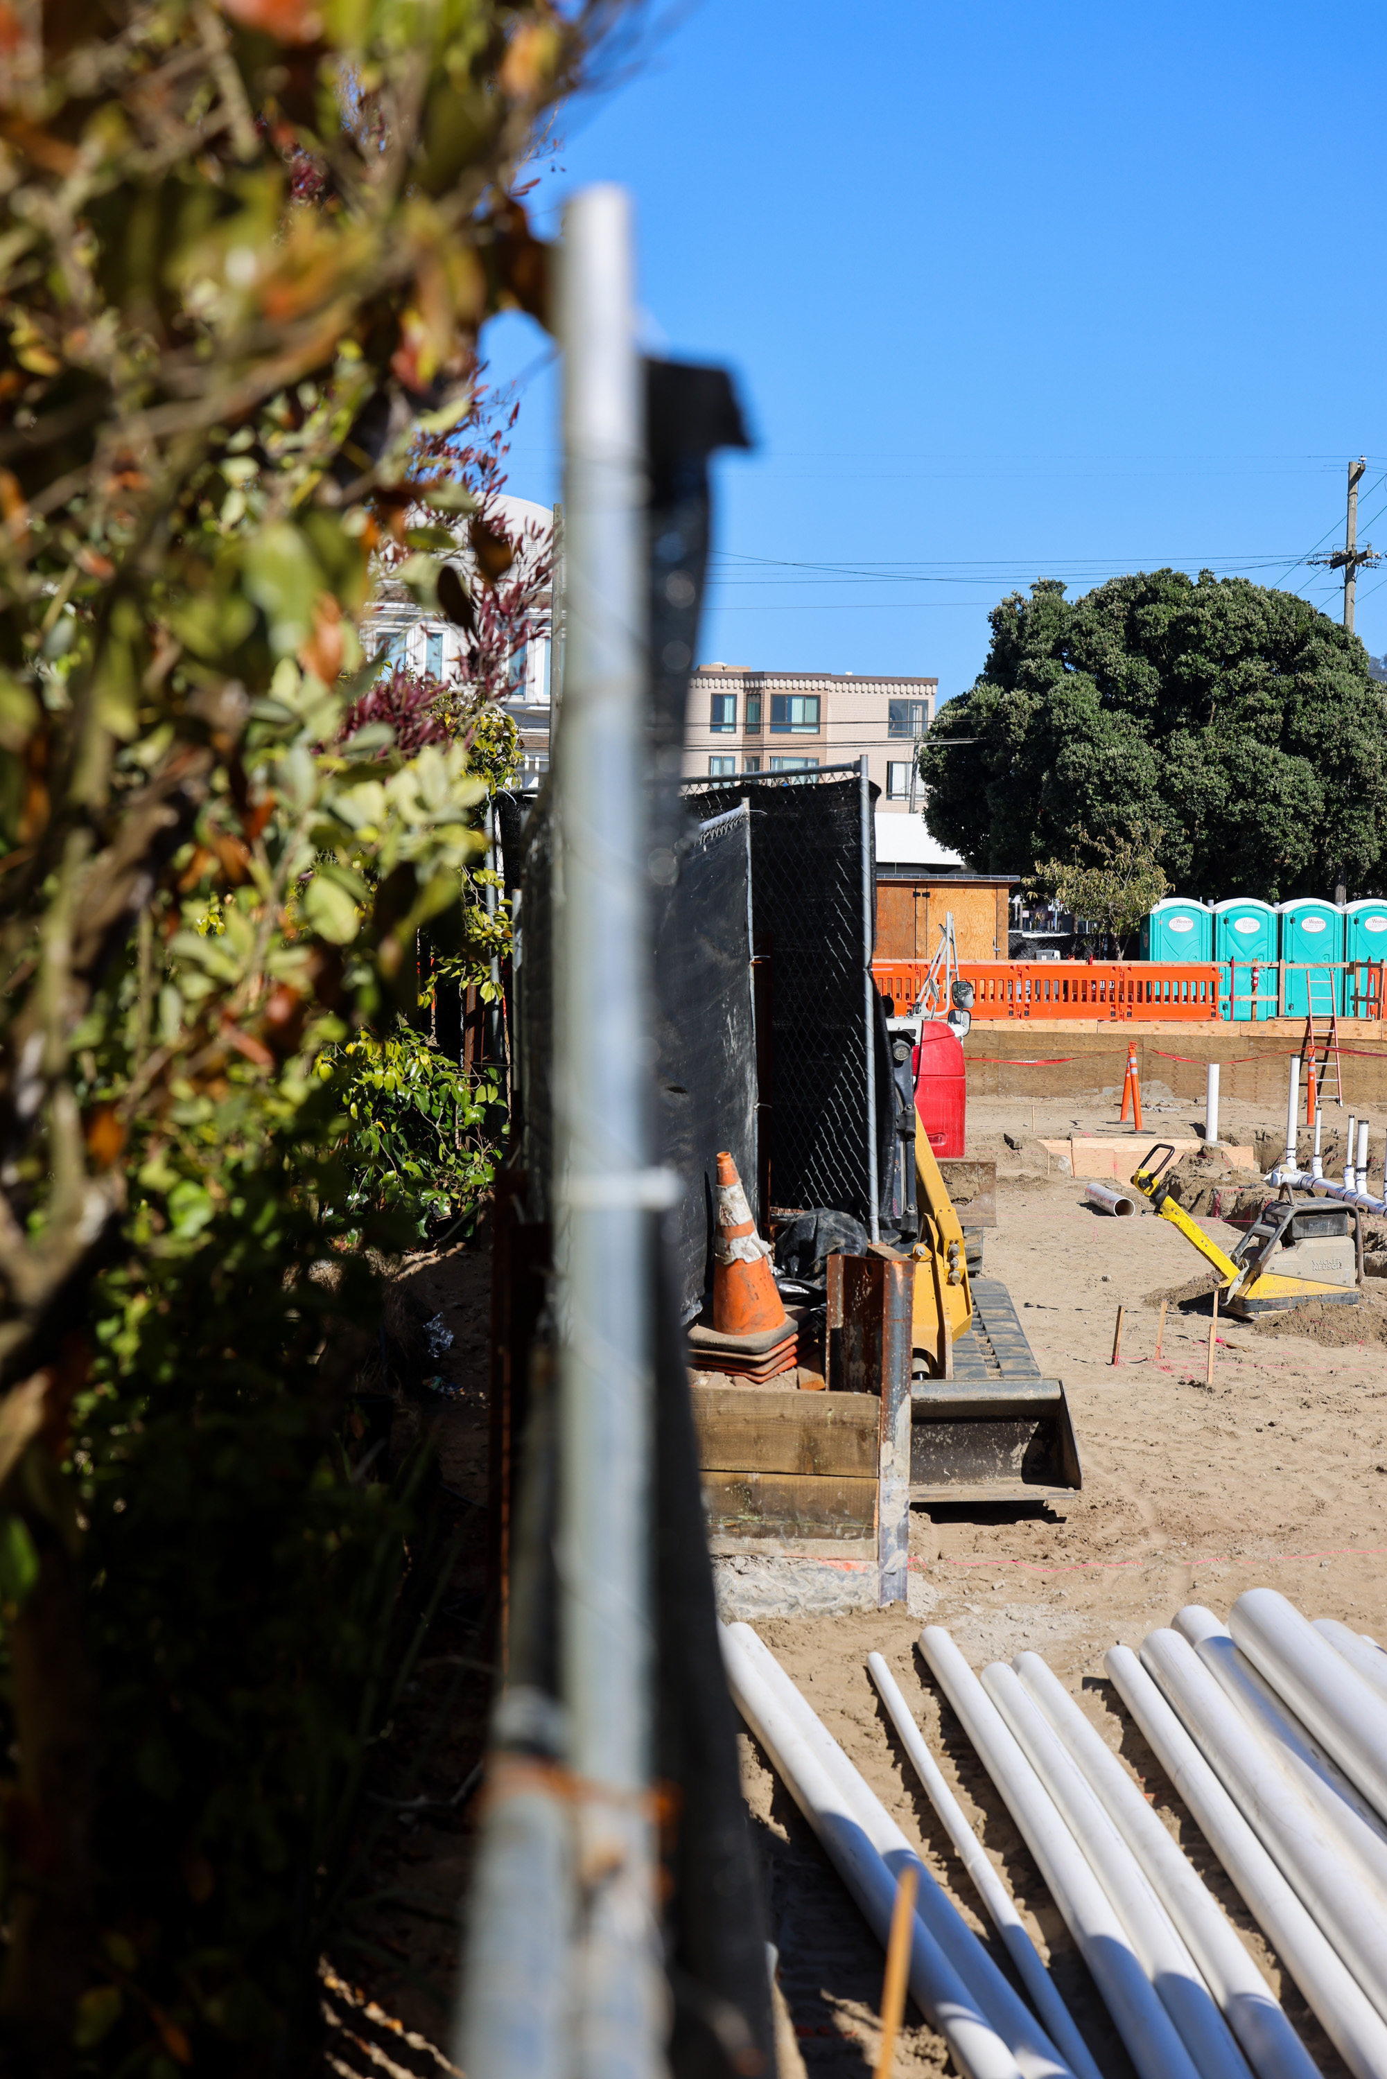
[[[1381,888],[1387,688],[1304,599],[1156,570],[1073,601],[1042,578],[990,620],[921,751],[925,821],[969,865],[1031,873],[1144,834],[1192,894]]]

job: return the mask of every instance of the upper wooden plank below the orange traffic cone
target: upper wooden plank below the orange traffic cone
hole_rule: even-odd
[[[875,1478],[880,1407],[869,1393],[690,1387],[709,1472]]]

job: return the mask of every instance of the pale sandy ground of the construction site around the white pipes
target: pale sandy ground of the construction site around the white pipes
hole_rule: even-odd
[[[1271,1125],[1244,1110],[1248,1119],[1225,1108],[1225,1137]],[[1198,1110],[1187,1112],[1148,1089],[1148,1127],[1196,1125]],[[1335,2052],[1110,1690],[1102,1655],[1115,1640],[1140,1647],[1181,1603],[1227,1615],[1254,1584],[1281,1588],[1312,1617],[1387,1636],[1387,1364],[1379,1341],[1387,1306],[1368,1287],[1370,1310],[1325,1310],[1323,1322],[1304,1322],[1312,1333],[1293,1318],[1275,1333],[1219,1322],[1208,1389],[1212,1306],[1206,1295],[1189,1297],[1169,1308],[1156,1358],[1158,1299],[1200,1285],[1200,1258],[1146,1210],[1129,1220],[1092,1212],[1081,1185],[1036,1175],[1025,1146],[1033,1133],[1098,1133],[1115,1119],[1117,1106],[1085,1110],[1073,1100],[1040,1104],[1036,1121],[1029,1102],[969,1112],[969,1154],[998,1156],[998,1227],[986,1241],[986,1270],[1011,1287],[1042,1370],[1065,1380],[1081,1495],[1054,1511],[915,1511],[909,1613],[776,1617],[759,1630],[982,1933],[975,1894],[867,1680],[867,1653],[886,1655],[1098,2062],[1125,2079],[1131,2067],[1106,2010],[915,1638],[921,1617],[946,1624],[973,1667],[1023,1647],[1044,1653],[1223,1898],[1331,2079],[1341,2073]],[[1009,1148],[1004,1135],[1019,1146]],[[1200,1225],[1225,1247],[1237,1239],[1223,1222]],[[1113,1366],[1119,1306],[1123,1362]],[[765,1757],[751,1738],[742,1751],[799,2052],[813,2075],[857,2079],[875,2062],[880,1950]],[[896,2069],[950,2069],[942,2042],[909,2015]]]

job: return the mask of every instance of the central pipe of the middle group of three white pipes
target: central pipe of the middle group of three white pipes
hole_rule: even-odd
[[[994,1661],[984,1667],[982,1686],[1092,1863],[1196,2071],[1202,2079],[1248,2079],[1229,2025],[1171,1915],[1017,1669]]]

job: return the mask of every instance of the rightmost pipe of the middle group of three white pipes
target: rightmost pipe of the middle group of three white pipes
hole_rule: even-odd
[[[1318,2079],[1281,2002],[1117,1755],[1038,1653],[1019,1653],[1015,1667],[1146,1871],[1260,2079]]]

